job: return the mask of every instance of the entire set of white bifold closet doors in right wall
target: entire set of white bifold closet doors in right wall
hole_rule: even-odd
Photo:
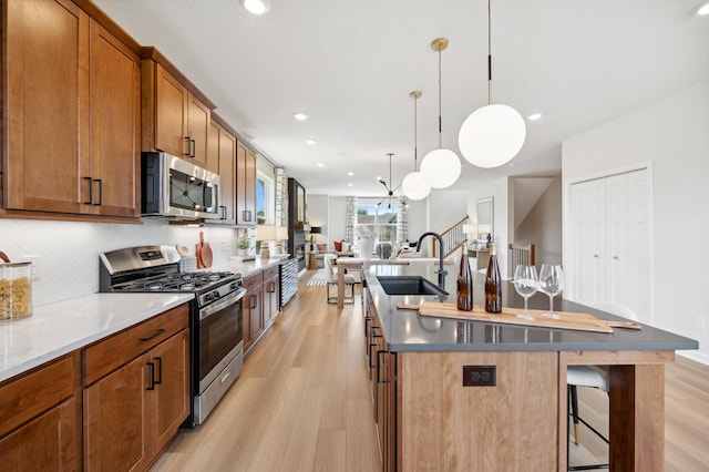
[[[648,171],[572,185],[569,296],[633,310],[651,321]]]

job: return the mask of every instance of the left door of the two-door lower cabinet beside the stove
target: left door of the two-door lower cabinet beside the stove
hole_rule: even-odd
[[[152,387],[150,355],[143,355],[84,389],[84,469],[145,470]]]

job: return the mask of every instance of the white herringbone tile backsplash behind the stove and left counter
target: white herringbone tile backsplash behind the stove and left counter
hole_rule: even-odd
[[[135,225],[0,219],[0,250],[12,261],[33,260],[32,296],[39,306],[99,291],[100,253],[183,244],[194,254],[201,230],[212,246],[214,266],[236,254],[234,228],[177,226],[161,219]]]

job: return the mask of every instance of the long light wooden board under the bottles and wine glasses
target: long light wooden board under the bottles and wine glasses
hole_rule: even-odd
[[[487,321],[503,325],[534,326],[552,329],[573,329],[578,331],[613,332],[613,328],[640,329],[640,325],[634,321],[612,321],[598,319],[589,314],[571,311],[556,311],[561,319],[549,319],[542,317],[544,310],[528,310],[535,318],[532,320],[520,319],[517,314],[523,312],[521,308],[503,308],[500,314],[489,314],[481,306],[474,306],[472,311],[461,311],[455,304],[424,301],[421,305],[398,304],[399,309],[419,310],[421,316],[438,318],[462,319],[469,321]]]

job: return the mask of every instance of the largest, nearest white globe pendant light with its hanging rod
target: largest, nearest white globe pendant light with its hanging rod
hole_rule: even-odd
[[[487,0],[487,105],[463,122],[458,135],[461,154],[477,167],[497,167],[517,155],[526,136],[522,115],[512,106],[492,103],[491,14]]]

